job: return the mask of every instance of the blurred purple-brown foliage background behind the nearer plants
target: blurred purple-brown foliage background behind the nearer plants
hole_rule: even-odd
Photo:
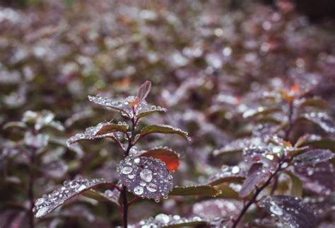
[[[250,135],[252,125],[241,115],[257,106],[264,91],[294,80],[313,84],[311,93],[326,98],[334,116],[334,20],[331,0],[1,0],[0,126],[20,120],[26,110],[50,110],[65,127],[50,135],[65,140],[100,121],[122,120],[90,103],[88,95],[127,97],[151,80],[148,103],[168,113],[146,121],[187,130],[192,142],[153,137],[139,149],[172,147],[182,161],[175,184],[201,183],[221,164],[237,163],[238,158],[219,161],[211,153]],[[16,134],[1,130],[0,147],[8,147]],[[78,174],[117,180],[121,153],[110,142],[84,142],[76,152],[53,144],[48,151],[46,161],[62,162],[53,166],[52,178],[37,178],[36,198]],[[20,211],[5,202],[27,200],[27,164],[24,157],[16,159],[0,162],[3,221]],[[67,206],[59,224],[119,224],[113,206],[82,201]],[[130,220],[171,212],[178,204],[144,200],[131,209],[136,213]],[[143,205],[148,210],[136,210]],[[192,211],[187,205],[177,208],[172,212]]]

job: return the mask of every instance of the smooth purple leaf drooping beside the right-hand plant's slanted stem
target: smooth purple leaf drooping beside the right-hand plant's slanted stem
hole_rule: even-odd
[[[269,173],[263,169],[263,164],[254,163],[249,169],[247,178],[242,185],[240,190],[240,197],[245,198],[251,193],[257,186],[257,184],[264,181],[269,176]]]

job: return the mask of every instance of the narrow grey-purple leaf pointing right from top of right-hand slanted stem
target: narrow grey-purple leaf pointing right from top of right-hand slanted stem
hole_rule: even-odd
[[[328,149],[312,149],[308,152],[295,156],[294,164],[297,166],[315,165],[322,161],[332,159],[334,154]]]

